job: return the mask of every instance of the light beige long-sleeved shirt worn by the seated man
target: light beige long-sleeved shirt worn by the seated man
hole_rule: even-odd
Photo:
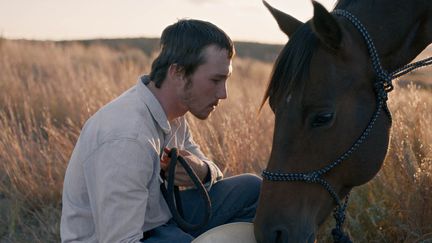
[[[159,175],[164,147],[205,161],[210,185],[222,178],[194,143],[185,118],[168,122],[146,79],[84,125],[64,179],[62,242],[138,242],[143,232],[166,223],[171,214]]]

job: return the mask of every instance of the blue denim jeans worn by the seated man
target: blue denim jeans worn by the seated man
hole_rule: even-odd
[[[151,231],[146,243],[190,243],[195,237],[216,226],[232,222],[252,222],[258,204],[261,179],[253,174],[228,177],[215,183],[209,196],[212,217],[206,227],[198,231],[184,232],[173,220]],[[180,193],[185,220],[202,222],[204,205],[197,190]]]

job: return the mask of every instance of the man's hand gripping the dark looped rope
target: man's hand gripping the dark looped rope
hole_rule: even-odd
[[[198,178],[203,181],[207,174],[209,173],[209,168],[206,163],[204,163],[202,160],[200,160],[198,157],[196,157],[194,154],[187,150],[177,150],[178,155],[182,156],[186,162],[189,164],[190,167],[195,171]],[[168,148],[164,148],[164,153],[161,158],[161,168],[165,172],[165,176],[168,177],[168,167],[169,163],[171,161],[171,158],[168,157],[168,153],[170,150]],[[180,163],[177,163],[176,165],[176,171],[174,176],[174,185],[176,186],[193,186],[192,179],[189,177],[186,170],[181,166]]]

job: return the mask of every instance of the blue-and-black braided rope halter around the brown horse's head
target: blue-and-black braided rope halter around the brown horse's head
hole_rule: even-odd
[[[374,83],[375,88],[375,94],[377,99],[377,105],[375,112],[372,115],[371,120],[369,121],[369,124],[367,127],[363,130],[363,133],[361,136],[354,142],[354,144],[345,152],[343,153],[338,159],[331,162],[327,166],[306,172],[306,173],[280,173],[280,172],[270,172],[268,170],[264,170],[262,173],[262,177],[269,181],[303,181],[306,183],[317,183],[322,185],[329,193],[330,196],[333,198],[335,203],[337,204],[336,208],[333,212],[333,217],[336,220],[336,227],[332,230],[332,235],[334,242],[351,242],[350,238],[343,232],[342,226],[343,222],[345,220],[345,209],[348,204],[348,196],[345,197],[344,202],[341,202],[341,199],[339,198],[336,191],[333,189],[333,187],[328,183],[325,179],[322,178],[322,176],[326,173],[328,173],[330,170],[332,170],[337,165],[341,164],[342,161],[346,160],[348,157],[351,156],[353,152],[355,152],[361,144],[364,143],[366,138],[369,136],[370,131],[375,125],[375,122],[377,121],[378,117],[381,114],[381,110],[384,110],[387,116],[390,119],[390,123],[392,122],[391,113],[387,107],[387,93],[393,90],[393,84],[392,80],[395,78],[398,78],[414,69],[417,69],[419,67],[427,66],[432,64],[432,57],[429,57],[427,59],[424,59],[419,62],[415,62],[412,64],[408,64],[392,73],[386,72],[382,66],[379,59],[378,52],[375,48],[375,45],[372,41],[372,38],[370,37],[369,33],[367,32],[366,28],[363,26],[363,24],[350,12],[342,9],[336,9],[333,11],[333,14],[345,17],[348,19],[361,33],[363,36],[363,39],[366,42],[369,55],[372,60],[372,66],[376,74],[376,81]]]

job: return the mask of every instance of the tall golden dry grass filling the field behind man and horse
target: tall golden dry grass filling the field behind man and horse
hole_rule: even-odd
[[[0,53],[0,242],[58,242],[64,170],[82,124],[146,73],[151,58],[133,49],[4,39]],[[188,120],[226,174],[259,173],[272,141],[273,114],[265,107],[258,115],[271,64],[234,65],[229,99],[208,121]],[[425,89],[391,94],[390,152],[349,206],[356,241],[432,242],[431,107]]]

